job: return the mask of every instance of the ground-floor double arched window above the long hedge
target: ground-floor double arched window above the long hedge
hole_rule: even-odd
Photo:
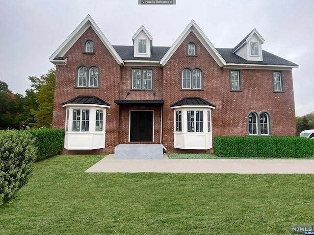
[[[248,114],[248,134],[250,136],[270,135],[270,116],[267,111],[257,113],[251,111]]]

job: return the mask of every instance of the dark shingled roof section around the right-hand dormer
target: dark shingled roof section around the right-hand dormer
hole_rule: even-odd
[[[219,54],[224,58],[227,63],[235,64],[256,64],[256,65],[288,65],[288,66],[298,66],[286,59],[283,59],[277,55],[271,54],[265,50],[262,50],[263,61],[248,61],[242,57],[233,54],[233,48],[216,48]]]

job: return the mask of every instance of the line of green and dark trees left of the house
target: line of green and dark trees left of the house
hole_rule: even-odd
[[[0,129],[51,128],[55,69],[28,79],[31,85],[25,96],[13,94],[0,81]]]

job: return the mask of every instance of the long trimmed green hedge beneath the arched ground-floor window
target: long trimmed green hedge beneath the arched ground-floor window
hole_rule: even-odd
[[[314,157],[314,140],[304,137],[214,137],[219,157],[309,158]]]

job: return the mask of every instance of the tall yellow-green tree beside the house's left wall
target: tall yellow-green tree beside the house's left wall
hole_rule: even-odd
[[[34,107],[30,110],[35,118],[33,127],[51,128],[55,69],[49,70],[47,74],[44,74],[39,78],[31,76],[28,79],[32,82],[31,87],[34,88],[35,97],[38,101],[38,107]]]

